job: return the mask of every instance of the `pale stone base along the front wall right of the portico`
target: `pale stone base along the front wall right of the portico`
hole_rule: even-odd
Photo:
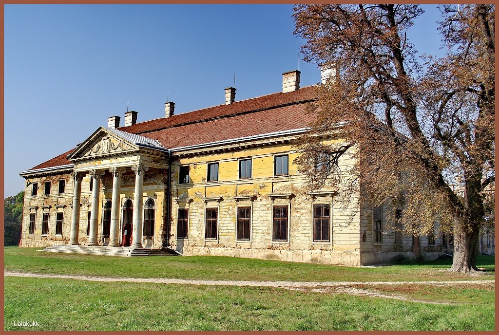
[[[273,250],[217,247],[177,247],[184,256],[227,256],[270,259],[283,262],[302,262],[359,266],[360,254],[355,252],[331,252],[328,250]]]

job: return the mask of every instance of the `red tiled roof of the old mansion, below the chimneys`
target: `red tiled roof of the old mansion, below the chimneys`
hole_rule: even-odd
[[[173,149],[306,127],[312,116],[305,115],[305,106],[314,99],[315,86],[308,86],[118,129],[158,140],[163,147]],[[74,150],[32,169],[71,164],[66,157]]]

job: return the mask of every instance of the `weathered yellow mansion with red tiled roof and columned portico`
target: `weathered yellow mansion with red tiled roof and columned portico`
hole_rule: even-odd
[[[332,72],[323,68],[322,82]],[[300,88],[299,76],[283,73],[282,91],[243,101],[226,88],[225,104],[189,113],[175,115],[167,102],[158,119],[137,122],[138,113],[128,111],[120,125],[119,116],[109,117],[76,148],[20,173],[19,245],[345,265],[451,251],[445,235],[391,229],[388,205],[345,206],[333,188],[308,189],[293,163],[293,141],[313,120],[305,107],[316,85]]]

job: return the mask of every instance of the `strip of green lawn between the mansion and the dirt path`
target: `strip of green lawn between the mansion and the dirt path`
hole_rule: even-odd
[[[317,282],[495,279],[495,258],[485,255],[477,257],[477,265],[487,272],[470,276],[446,272],[452,263],[450,258],[383,267],[344,267],[216,256],[112,257],[42,252],[36,248],[3,250],[5,270],[45,274]]]

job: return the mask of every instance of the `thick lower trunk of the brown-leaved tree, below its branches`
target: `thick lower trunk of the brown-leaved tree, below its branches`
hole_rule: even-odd
[[[474,272],[477,271],[476,256],[477,243],[480,231],[464,233],[459,227],[454,228],[454,258],[451,272]]]

